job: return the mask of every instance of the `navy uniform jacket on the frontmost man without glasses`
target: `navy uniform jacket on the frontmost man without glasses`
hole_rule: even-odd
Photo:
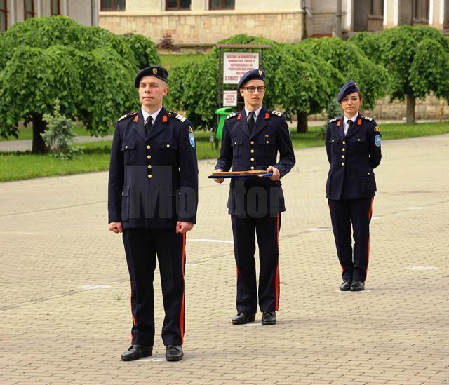
[[[147,137],[142,111],[116,123],[109,167],[109,223],[175,228],[196,222],[198,164],[190,122],[162,107]]]

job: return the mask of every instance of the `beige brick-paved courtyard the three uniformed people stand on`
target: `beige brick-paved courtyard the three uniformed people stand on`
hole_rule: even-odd
[[[364,292],[339,292],[323,148],[283,181],[278,324],[234,326],[226,185],[200,162],[185,359],[125,363],[130,285],[107,173],[0,184],[0,384],[449,384],[449,135],[382,144]],[[227,184],[228,182],[225,182]]]

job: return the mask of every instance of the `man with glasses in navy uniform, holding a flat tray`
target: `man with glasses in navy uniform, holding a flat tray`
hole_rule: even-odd
[[[246,72],[239,91],[245,107],[231,114],[223,127],[222,148],[216,171],[267,170],[271,177],[232,179],[228,212],[234,234],[237,266],[237,315],[234,325],[255,320],[257,297],[262,325],[276,323],[279,307],[279,230],[285,211],[281,177],[295,165],[285,116],[262,105],[265,95],[262,69]],[[280,154],[277,161],[278,152]],[[215,182],[222,183],[217,178]],[[255,234],[259,245],[259,288],[255,272]]]

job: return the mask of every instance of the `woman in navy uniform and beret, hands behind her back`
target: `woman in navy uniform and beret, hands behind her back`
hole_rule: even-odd
[[[376,182],[373,168],[380,164],[381,135],[372,118],[361,116],[362,95],[354,81],[344,84],[337,97],[344,115],[326,128],[330,163],[326,196],[342,267],[342,291],[365,288],[370,254],[370,220]],[[354,248],[351,244],[351,224]]]

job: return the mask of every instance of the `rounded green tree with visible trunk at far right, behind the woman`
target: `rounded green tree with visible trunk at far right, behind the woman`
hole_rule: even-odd
[[[416,98],[430,93],[449,99],[449,39],[432,27],[401,25],[385,29],[372,38],[355,36],[351,41],[370,50],[370,40],[378,40],[375,57],[391,76],[391,101],[407,100],[407,123],[416,122]]]

